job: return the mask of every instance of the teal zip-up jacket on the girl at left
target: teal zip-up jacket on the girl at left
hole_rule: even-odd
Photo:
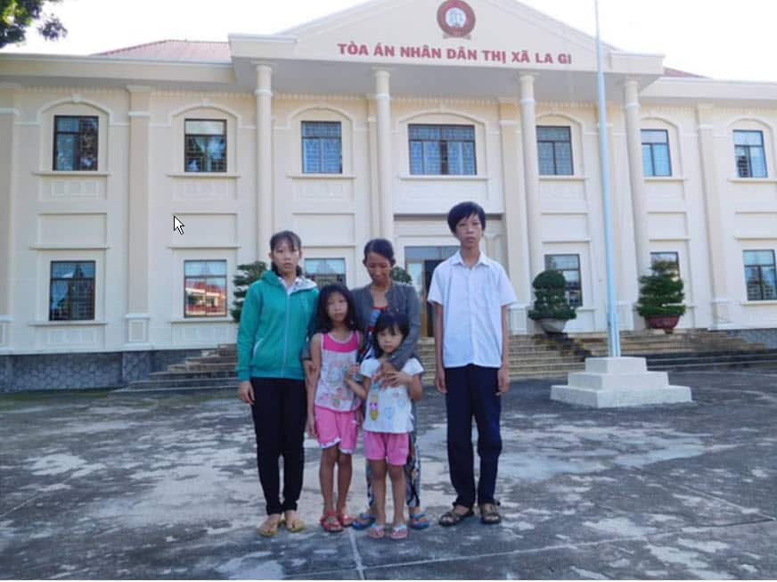
[[[237,332],[238,380],[304,380],[299,353],[315,332],[317,302],[318,288],[305,277],[297,278],[290,293],[273,271],[251,283]]]

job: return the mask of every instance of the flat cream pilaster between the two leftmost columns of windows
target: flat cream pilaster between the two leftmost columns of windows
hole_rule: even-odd
[[[127,347],[148,347],[149,190],[151,188],[151,87],[127,86],[129,92],[129,212],[127,215]]]

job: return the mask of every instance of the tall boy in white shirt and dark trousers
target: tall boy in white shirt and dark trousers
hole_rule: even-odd
[[[503,266],[480,251],[485,211],[475,202],[456,204],[448,212],[448,226],[461,246],[435,269],[429,302],[434,306],[435,385],[446,396],[448,465],[457,496],[439,523],[454,526],[474,515],[474,415],[480,521],[492,525],[502,521],[494,493],[502,451],[500,397],[510,388],[507,306],[516,297]]]

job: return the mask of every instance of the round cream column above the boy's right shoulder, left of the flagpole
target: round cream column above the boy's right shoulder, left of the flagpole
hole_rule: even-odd
[[[520,77],[520,129],[523,137],[523,178],[526,188],[528,252],[531,278],[544,270],[542,208],[539,162],[537,161],[536,102],[534,75]]]

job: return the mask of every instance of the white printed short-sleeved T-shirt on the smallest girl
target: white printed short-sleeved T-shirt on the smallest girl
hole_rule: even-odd
[[[378,370],[380,360],[368,358],[362,362],[359,372],[367,378]],[[402,367],[402,372],[414,376],[423,372],[423,366],[411,357]],[[406,386],[382,386],[382,381],[370,383],[367,395],[367,410],[364,413],[364,430],[370,432],[405,433],[413,430],[413,408]]]

